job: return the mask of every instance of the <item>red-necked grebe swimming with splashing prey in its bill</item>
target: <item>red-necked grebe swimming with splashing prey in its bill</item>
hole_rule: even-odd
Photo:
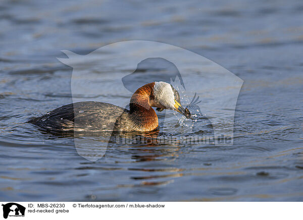
[[[29,121],[51,131],[114,131],[147,132],[158,127],[157,111],[173,109],[188,119],[189,110],[180,104],[178,91],[169,83],[152,82],[138,88],[132,95],[129,110],[97,101],[82,101],[63,105]]]

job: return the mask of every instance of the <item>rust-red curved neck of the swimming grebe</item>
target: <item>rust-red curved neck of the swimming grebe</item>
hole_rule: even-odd
[[[158,116],[150,106],[154,99],[153,88],[155,83],[148,83],[138,88],[129,102],[130,115],[141,127],[142,131],[152,131],[158,127]]]

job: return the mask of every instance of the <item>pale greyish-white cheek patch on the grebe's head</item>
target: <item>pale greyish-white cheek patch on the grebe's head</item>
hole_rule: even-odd
[[[155,82],[154,96],[156,101],[164,105],[167,109],[174,109],[174,92],[169,83]]]

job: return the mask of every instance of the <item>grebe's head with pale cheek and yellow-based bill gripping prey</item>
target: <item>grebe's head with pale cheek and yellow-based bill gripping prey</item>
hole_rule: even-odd
[[[154,99],[150,100],[150,105],[157,107],[157,111],[163,109],[173,109],[181,113],[188,119],[192,119],[188,108],[183,108],[180,104],[179,92],[169,83],[155,82],[153,88]]]

